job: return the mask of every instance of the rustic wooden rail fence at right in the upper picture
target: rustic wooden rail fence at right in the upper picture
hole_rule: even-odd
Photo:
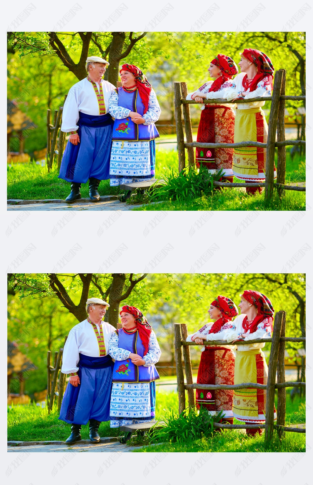
[[[236,99],[236,103],[251,103],[253,101],[268,101],[271,100],[271,110],[268,122],[267,142],[240,142],[240,143],[198,143],[194,142],[192,138],[192,127],[190,119],[189,104],[199,104],[197,101],[187,101],[187,84],[186,82],[174,82],[174,103],[175,103],[175,119],[176,119],[176,134],[177,134],[177,149],[178,149],[178,165],[179,171],[185,168],[185,148],[188,153],[189,167],[195,165],[194,147],[198,148],[232,148],[243,146],[257,146],[266,148],[266,172],[264,182],[251,183],[230,183],[217,182],[214,185],[219,187],[265,187],[265,199],[272,198],[273,189],[276,187],[280,195],[284,190],[305,191],[305,187],[297,187],[292,185],[285,185],[286,173],[286,146],[288,145],[303,145],[303,140],[285,140],[285,101],[292,99],[294,101],[305,100],[305,96],[285,96],[286,87],[286,71],[280,69],[277,71],[274,79],[273,95],[268,97],[255,97],[252,99]],[[225,99],[204,99],[205,104],[218,103],[226,104],[229,101]],[[181,112],[182,105],[182,112]],[[184,128],[186,133],[186,142],[184,141],[184,131],[182,124],[182,113],[184,118]],[[276,140],[277,130],[277,142]],[[277,163],[277,182],[274,184],[274,157],[275,147],[278,147],[278,163]]]

